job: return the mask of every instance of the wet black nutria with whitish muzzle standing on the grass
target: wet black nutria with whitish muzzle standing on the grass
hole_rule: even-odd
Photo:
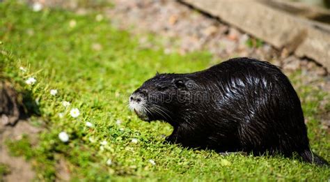
[[[157,73],[132,93],[129,107],[144,121],[170,123],[171,143],[254,155],[297,153],[327,165],[309,147],[288,77],[265,61],[237,58],[196,73]]]

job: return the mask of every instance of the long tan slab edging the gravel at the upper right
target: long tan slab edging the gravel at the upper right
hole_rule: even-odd
[[[300,57],[307,56],[330,70],[330,26],[285,13],[269,6],[268,3],[272,2],[184,0],[184,3],[219,17],[277,49],[285,48],[288,54],[294,52]]]

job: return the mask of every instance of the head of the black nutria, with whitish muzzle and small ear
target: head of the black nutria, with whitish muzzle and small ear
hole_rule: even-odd
[[[143,121],[162,120],[171,123],[188,96],[196,88],[194,80],[184,74],[157,74],[129,96],[129,109]]]

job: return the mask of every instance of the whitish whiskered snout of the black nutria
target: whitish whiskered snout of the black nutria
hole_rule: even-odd
[[[129,96],[129,109],[134,111],[135,114],[143,121],[149,121],[147,116],[146,100],[146,94],[141,91],[135,91],[131,96]]]

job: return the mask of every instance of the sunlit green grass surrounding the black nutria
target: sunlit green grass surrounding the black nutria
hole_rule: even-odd
[[[171,133],[171,126],[140,121],[127,109],[129,94],[156,70],[202,70],[212,64],[211,55],[196,52],[181,56],[142,48],[139,37],[111,27],[108,20],[97,22],[95,16],[50,9],[37,13],[15,1],[0,3],[1,77],[10,79],[29,100],[29,109],[39,115],[33,116],[31,123],[45,128],[36,146],[30,144],[29,137],[7,144],[13,155],[26,156],[32,162],[38,180],[56,178],[58,156],[68,163],[72,181],[329,179],[326,167],[280,156],[221,156],[214,151],[164,144],[164,135]],[[70,22],[76,25],[71,27]],[[27,71],[23,73],[20,66]],[[35,77],[36,84],[26,85],[29,77]],[[57,89],[58,94],[51,96],[50,89]],[[317,120],[318,103],[324,93],[308,86],[298,91],[309,119],[311,146],[330,160],[330,136]],[[313,100],[305,99],[307,96]],[[71,103],[70,107],[63,107],[64,100]],[[72,108],[79,109],[77,118],[70,116]],[[93,123],[93,128],[88,128],[86,121]],[[62,131],[68,132],[69,142],[58,139]],[[139,142],[132,143],[133,138]],[[108,144],[102,146],[102,141]],[[109,159],[111,165],[107,165]]]

